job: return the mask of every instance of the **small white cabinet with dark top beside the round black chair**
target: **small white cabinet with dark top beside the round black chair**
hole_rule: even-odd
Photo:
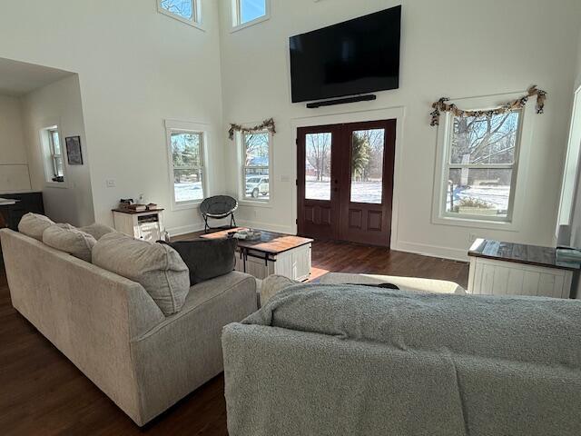
[[[162,209],[143,212],[115,209],[113,223],[115,230],[150,243],[163,239],[165,233]]]

